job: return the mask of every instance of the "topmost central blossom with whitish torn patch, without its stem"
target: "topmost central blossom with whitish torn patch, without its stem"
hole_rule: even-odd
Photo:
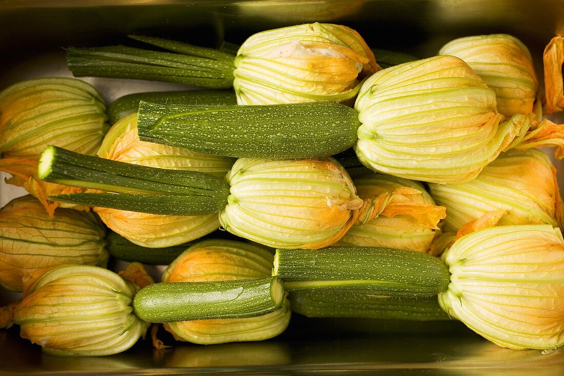
[[[254,34],[239,48],[235,67],[239,104],[347,101],[363,77],[380,69],[355,30],[320,23]]]

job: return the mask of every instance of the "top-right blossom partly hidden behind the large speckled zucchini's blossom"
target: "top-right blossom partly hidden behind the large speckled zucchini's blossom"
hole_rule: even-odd
[[[534,112],[539,79],[531,52],[508,34],[458,38],[440,48],[439,55],[460,57],[496,94],[497,111],[506,117]]]

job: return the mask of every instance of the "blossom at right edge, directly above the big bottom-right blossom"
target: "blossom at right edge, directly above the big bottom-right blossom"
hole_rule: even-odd
[[[445,231],[459,231],[499,212],[500,225],[563,223],[556,169],[536,149],[501,153],[470,182],[429,188],[435,201],[447,208]]]

